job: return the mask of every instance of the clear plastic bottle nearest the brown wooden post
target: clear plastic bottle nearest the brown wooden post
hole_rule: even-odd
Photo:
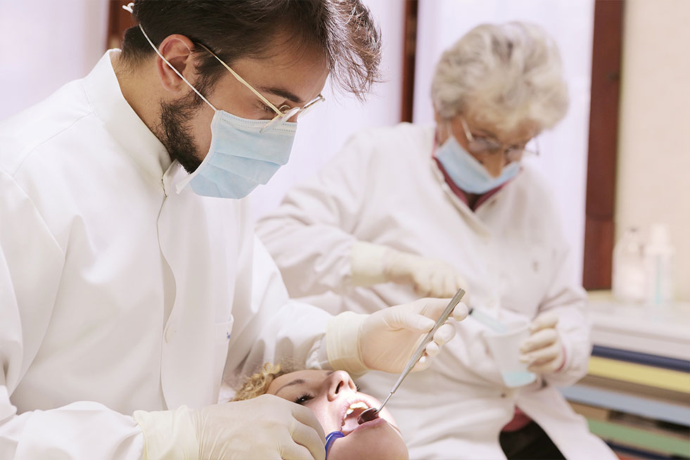
[[[625,229],[613,248],[611,290],[619,302],[641,303],[646,300],[644,244],[637,227]]]

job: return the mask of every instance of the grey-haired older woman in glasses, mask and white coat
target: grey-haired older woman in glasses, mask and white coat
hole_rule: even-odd
[[[357,134],[262,219],[260,236],[290,293],[330,293],[332,312],[464,286],[471,307],[530,321],[530,385],[504,384],[478,321],[407,378],[388,407],[411,458],[615,458],[556,390],[587,371],[585,295],[552,194],[521,161],[568,106],[554,42],[527,23],[475,27],[443,54],[431,94],[435,126]],[[359,379],[378,397],[394,382]]]

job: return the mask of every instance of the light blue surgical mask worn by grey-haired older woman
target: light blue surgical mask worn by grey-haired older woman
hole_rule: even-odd
[[[452,135],[436,149],[436,158],[454,184],[468,193],[486,193],[505,184],[520,172],[520,164],[510,162],[504,166],[499,177],[491,177],[486,168],[467,153]]]

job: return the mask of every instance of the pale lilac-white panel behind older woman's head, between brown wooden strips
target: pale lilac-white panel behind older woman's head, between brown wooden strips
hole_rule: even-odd
[[[539,136],[541,155],[534,162],[551,181],[561,204],[566,237],[576,255],[576,273],[581,279],[594,0],[421,0],[414,122],[433,122],[431,79],[442,51],[475,25],[510,20],[542,25],[561,50],[570,108],[553,130]]]

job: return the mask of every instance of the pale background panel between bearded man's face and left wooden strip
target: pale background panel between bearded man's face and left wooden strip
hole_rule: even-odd
[[[290,162],[268,184],[252,192],[255,217],[278,206],[290,186],[316,173],[354,132],[400,122],[404,1],[364,0],[364,3],[381,26],[381,70],[385,81],[373,88],[365,103],[344,94],[333,95],[328,82],[324,91],[326,103],[300,119]]]

